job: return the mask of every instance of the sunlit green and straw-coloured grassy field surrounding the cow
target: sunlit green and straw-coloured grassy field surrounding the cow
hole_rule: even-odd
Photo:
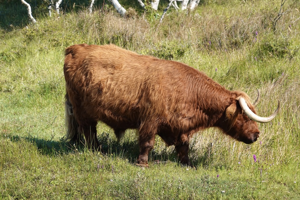
[[[274,30],[280,2],[201,1],[188,14],[169,10],[161,24],[162,10],[121,18],[99,3],[92,14],[70,6],[50,18],[35,10],[35,25],[22,5],[1,4],[1,15],[24,16],[0,17],[0,199],[298,199],[300,2],[286,1]],[[253,101],[258,88],[257,113],[270,115],[278,100],[280,113],[259,124],[252,145],[217,129],[199,132],[189,153],[196,170],[181,166],[159,137],[150,167],[134,166],[136,130],[117,142],[100,123],[106,154],[65,143],[63,54],[76,43],[184,62]]]

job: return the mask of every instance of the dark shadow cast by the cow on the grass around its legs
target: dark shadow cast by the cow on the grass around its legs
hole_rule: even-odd
[[[35,145],[41,154],[48,156],[57,156],[60,154],[76,154],[83,151],[86,151],[86,147],[84,142],[80,142],[80,144],[71,144],[69,142],[65,142],[64,138],[61,138],[60,141],[55,140],[46,140],[33,136],[18,136],[18,135],[8,135],[4,136],[1,134],[2,138],[9,138],[12,142],[28,142]],[[137,157],[140,154],[139,145],[137,140],[132,140],[129,138],[124,138],[120,142],[111,136],[109,133],[102,133],[98,136],[98,140],[102,145],[102,151],[104,155],[107,157],[117,156],[121,159],[127,159],[129,163],[136,163]],[[83,138],[82,138],[82,141]],[[192,150],[192,149],[191,149]],[[198,165],[207,165],[207,157],[203,155],[195,159],[192,156],[191,161],[194,166]],[[160,152],[151,151],[149,153],[149,163],[154,164],[164,164],[164,163],[174,163],[176,165],[180,165],[180,162],[177,157],[177,153],[175,150],[166,151],[162,150]]]

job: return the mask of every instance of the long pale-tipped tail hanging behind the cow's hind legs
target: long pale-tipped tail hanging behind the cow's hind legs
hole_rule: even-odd
[[[80,142],[80,133],[78,132],[79,124],[76,121],[76,118],[73,113],[73,106],[70,102],[68,93],[65,96],[65,125],[67,128],[67,133],[65,136],[66,142]]]

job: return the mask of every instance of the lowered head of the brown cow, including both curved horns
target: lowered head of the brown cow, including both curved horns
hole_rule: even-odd
[[[225,133],[246,144],[255,142],[259,137],[256,122],[266,123],[273,120],[280,108],[278,101],[277,109],[272,115],[269,117],[260,117],[256,115],[254,109],[258,101],[259,93],[257,100],[253,104],[250,103],[249,97],[246,94],[242,93],[238,96],[234,103],[226,108],[225,121],[227,121],[227,127],[223,128]]]

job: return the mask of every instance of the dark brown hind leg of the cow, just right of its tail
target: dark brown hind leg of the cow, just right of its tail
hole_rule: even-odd
[[[85,137],[85,145],[90,149],[98,151],[101,149],[101,146],[97,139],[96,125],[96,121],[85,123],[84,125],[79,126],[79,130],[82,131]]]

